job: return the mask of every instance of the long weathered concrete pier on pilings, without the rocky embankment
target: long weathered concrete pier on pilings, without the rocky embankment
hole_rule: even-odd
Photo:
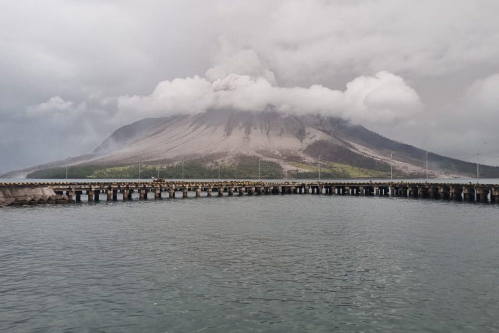
[[[35,183],[36,184],[36,183]],[[1,183],[1,186],[12,186]],[[33,183],[16,184],[18,187],[32,187]],[[499,185],[496,184],[454,184],[454,183],[411,183],[411,182],[113,182],[113,183],[40,183],[40,186],[49,186],[54,193],[65,194],[67,202],[80,202],[81,194],[86,193],[88,202],[99,200],[100,194],[106,195],[107,201],[116,201],[118,193],[122,194],[123,201],[131,200],[134,191],[138,191],[140,200],[147,200],[148,192],[154,193],[154,199],[159,200],[163,191],[168,192],[169,198],[175,198],[175,191],[181,191],[182,197],[187,198],[189,192],[195,192],[197,198],[201,191],[212,196],[213,189],[218,196],[234,196],[235,191],[240,196],[263,194],[326,194],[348,196],[393,196],[424,199],[465,200],[468,202],[499,203]],[[193,193],[194,196],[194,193]],[[85,197],[84,197],[85,199]]]

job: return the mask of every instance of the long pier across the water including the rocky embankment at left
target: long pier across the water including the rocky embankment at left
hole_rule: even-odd
[[[40,189],[49,191],[40,195]],[[410,182],[253,182],[253,181],[134,181],[0,183],[5,205],[62,204],[100,200],[159,200],[189,196],[323,194],[394,196],[468,202],[499,203],[496,184],[442,184]],[[8,193],[23,193],[12,200]],[[37,192],[38,191],[38,192]],[[52,192],[53,191],[53,194]],[[191,193],[191,194],[189,194]],[[6,200],[6,201],[5,201]],[[6,204],[5,204],[6,203]]]

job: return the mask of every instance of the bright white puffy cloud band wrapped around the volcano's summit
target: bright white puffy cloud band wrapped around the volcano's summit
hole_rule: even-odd
[[[363,124],[394,123],[411,118],[422,109],[418,93],[402,77],[386,71],[357,77],[343,91],[322,85],[280,87],[263,76],[231,73],[214,81],[199,76],[166,80],[150,95],[121,96],[116,117],[131,121],[208,109],[258,112],[268,105],[280,112],[318,113]],[[130,115],[135,119],[130,119]]]

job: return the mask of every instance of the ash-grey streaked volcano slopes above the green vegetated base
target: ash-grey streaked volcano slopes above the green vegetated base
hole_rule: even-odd
[[[333,176],[335,168],[345,171],[344,176],[386,176],[390,165],[398,176],[426,174],[426,151],[422,149],[339,118],[274,111],[214,110],[146,118],[117,129],[91,154],[69,162],[73,166],[104,168],[138,162],[166,167],[179,161],[198,161],[205,167],[214,167],[218,162],[237,164],[248,158],[272,162],[288,177],[293,173],[315,174],[319,159],[323,171],[327,174],[329,170]],[[473,176],[476,170],[476,164],[433,153],[429,154],[429,161],[431,176]],[[60,168],[65,163],[30,170]],[[483,168],[484,177],[498,175],[498,167]]]

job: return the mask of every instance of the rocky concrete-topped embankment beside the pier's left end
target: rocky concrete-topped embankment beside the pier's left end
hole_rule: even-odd
[[[65,195],[58,195],[49,187],[1,187],[0,207],[68,203]]]

